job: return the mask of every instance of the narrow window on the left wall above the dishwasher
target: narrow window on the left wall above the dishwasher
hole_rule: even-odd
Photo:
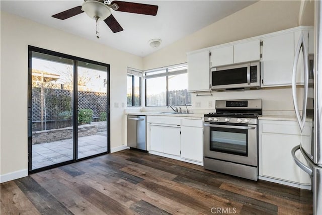
[[[142,71],[127,69],[127,106],[141,106]]]

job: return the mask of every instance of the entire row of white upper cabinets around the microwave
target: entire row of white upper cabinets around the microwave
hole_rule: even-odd
[[[310,56],[314,53],[314,30],[308,26],[299,26],[189,53],[189,91],[210,90],[210,67],[258,60],[261,61],[262,88],[292,85],[295,49],[302,32]],[[296,77],[299,85],[304,82],[303,65],[303,54],[300,53]]]

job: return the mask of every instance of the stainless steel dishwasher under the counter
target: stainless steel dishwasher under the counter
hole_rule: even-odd
[[[127,116],[127,146],[146,151],[146,116]]]

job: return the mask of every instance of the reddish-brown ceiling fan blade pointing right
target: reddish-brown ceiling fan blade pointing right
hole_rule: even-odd
[[[114,9],[113,4],[117,4],[118,9]],[[111,5],[115,11],[144,14],[144,15],[151,15],[151,16],[155,16],[158,9],[158,6],[156,5],[146,5],[146,4],[122,2],[122,1],[113,1]]]

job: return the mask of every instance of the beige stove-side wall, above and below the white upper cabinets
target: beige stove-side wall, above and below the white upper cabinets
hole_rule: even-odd
[[[306,6],[303,25],[313,25],[312,4]],[[260,1],[144,57],[144,70],[187,62],[189,51],[296,27],[299,11],[300,1]],[[213,92],[213,96],[200,97],[192,94],[192,108],[209,109],[209,101],[217,99],[262,98],[264,110],[292,111],[291,95],[290,88]],[[196,107],[196,102],[200,102],[200,108]]]

